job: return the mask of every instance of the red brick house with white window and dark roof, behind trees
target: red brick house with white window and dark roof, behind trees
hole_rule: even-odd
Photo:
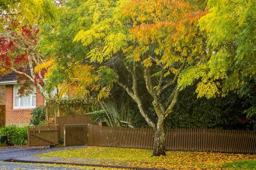
[[[17,84],[17,74],[14,71],[0,77],[0,86],[5,86],[6,125],[28,124],[32,109],[45,104],[44,97],[35,85],[32,85],[33,94],[25,97],[18,95],[20,85]]]

